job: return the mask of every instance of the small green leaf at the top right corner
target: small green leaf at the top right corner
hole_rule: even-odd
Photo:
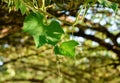
[[[114,2],[110,2],[108,0],[98,0],[98,2],[104,6],[107,6],[109,8],[112,8],[114,11],[118,9],[118,4]]]

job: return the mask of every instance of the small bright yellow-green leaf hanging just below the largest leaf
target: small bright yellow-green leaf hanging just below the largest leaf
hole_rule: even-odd
[[[78,43],[74,40],[63,42],[60,46],[55,46],[54,52],[55,54],[73,57],[75,55],[75,46],[77,45]]]

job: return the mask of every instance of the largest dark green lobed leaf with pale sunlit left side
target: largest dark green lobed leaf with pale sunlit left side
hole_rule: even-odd
[[[26,16],[23,24],[23,31],[33,36],[36,47],[46,43],[55,45],[64,33],[57,21],[52,20],[49,25],[46,25],[43,20],[44,16],[42,14],[30,13]]]

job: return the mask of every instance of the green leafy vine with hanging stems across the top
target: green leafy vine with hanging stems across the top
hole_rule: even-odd
[[[8,4],[9,11],[20,10],[22,15],[26,14],[23,31],[33,36],[36,47],[45,44],[54,46],[56,54],[74,56],[75,47],[78,45],[75,40],[62,41],[67,32],[63,30],[60,22],[72,26],[74,29],[79,21],[83,20],[89,7],[101,4],[117,10],[118,4],[109,0],[2,0]],[[81,6],[81,7],[80,7]],[[76,20],[67,22],[52,15],[54,11],[76,11]],[[79,19],[81,11],[84,10],[82,19]],[[59,22],[60,21],[60,22]],[[73,33],[73,31],[72,31]]]

